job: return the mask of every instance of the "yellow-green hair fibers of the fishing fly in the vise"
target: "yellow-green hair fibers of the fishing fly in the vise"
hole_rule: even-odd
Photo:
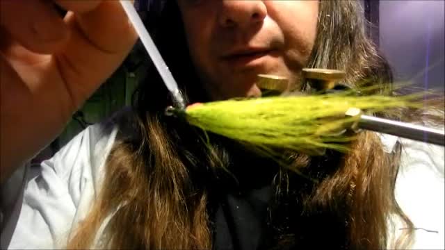
[[[319,154],[325,149],[348,150],[355,136],[344,132],[359,119],[345,115],[349,108],[372,114],[413,105],[410,97],[357,97],[342,92],[198,103],[181,113],[193,126],[263,151]]]

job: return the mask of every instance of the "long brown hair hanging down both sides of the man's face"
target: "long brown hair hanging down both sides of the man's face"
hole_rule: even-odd
[[[177,6],[174,1],[166,4],[156,33],[159,49],[175,78],[186,84],[181,88],[188,98],[207,101],[188,51],[181,47],[186,42]],[[341,69],[347,73],[347,83],[362,84],[366,79],[380,86],[376,92],[388,92],[391,72],[366,36],[365,26],[358,1],[321,1],[318,37],[308,67]],[[135,95],[133,118],[120,122],[102,189],[68,249],[92,247],[99,227],[111,214],[99,247],[211,248],[209,190],[218,169],[227,165],[230,149],[218,140],[209,146],[199,139],[200,131],[165,117],[163,110],[172,101],[153,69],[149,76]],[[412,228],[394,197],[400,153],[400,145],[385,152],[378,136],[370,132],[359,133],[346,154],[291,153],[292,167],[318,182],[280,169],[268,208],[272,236],[267,247],[386,248],[391,214]],[[410,233],[407,230],[405,238]]]

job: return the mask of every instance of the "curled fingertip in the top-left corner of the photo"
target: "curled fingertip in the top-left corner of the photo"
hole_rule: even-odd
[[[27,49],[51,53],[63,47],[69,38],[63,19],[49,1],[0,1],[0,25]]]

